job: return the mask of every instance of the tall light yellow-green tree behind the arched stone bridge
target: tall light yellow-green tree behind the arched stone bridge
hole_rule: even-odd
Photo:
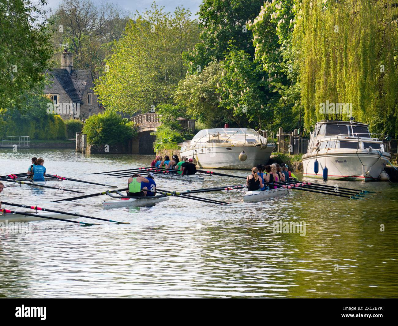
[[[173,103],[172,94],[186,74],[182,53],[199,36],[190,16],[182,7],[171,14],[153,3],[127,23],[96,82],[95,91],[107,109],[132,114]]]

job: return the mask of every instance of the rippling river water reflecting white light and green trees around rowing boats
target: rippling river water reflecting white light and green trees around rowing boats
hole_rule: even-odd
[[[2,149],[0,174],[25,172],[31,156],[44,158],[49,174],[119,187],[126,187],[125,179],[90,173],[149,166],[152,159],[84,156],[70,149]],[[200,184],[162,178],[156,182],[168,190],[242,182],[207,178]],[[70,181],[62,184],[85,193],[109,189]],[[236,204],[172,197],[146,207],[103,210],[101,201],[110,197],[51,203],[80,194],[28,185],[6,187],[0,194],[2,201],[80,211],[130,224],[99,221],[80,226],[46,220],[31,222],[31,233],[5,234],[0,229],[0,297],[397,297],[398,184],[327,184],[376,193],[365,200],[347,200],[291,191],[267,201],[243,203],[241,193],[215,192],[197,195]],[[273,223],[280,221],[305,223],[305,236],[304,232],[274,233]]]

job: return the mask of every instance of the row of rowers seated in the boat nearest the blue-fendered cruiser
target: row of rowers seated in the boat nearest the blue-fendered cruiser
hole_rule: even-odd
[[[252,168],[252,174],[249,174],[246,178],[246,185],[248,191],[263,191],[266,189],[274,189],[277,186],[271,185],[270,187],[266,183],[275,182],[286,182],[289,180],[298,180],[296,176],[288,170],[287,164],[282,163],[281,165],[274,163],[271,165],[258,165]]]

